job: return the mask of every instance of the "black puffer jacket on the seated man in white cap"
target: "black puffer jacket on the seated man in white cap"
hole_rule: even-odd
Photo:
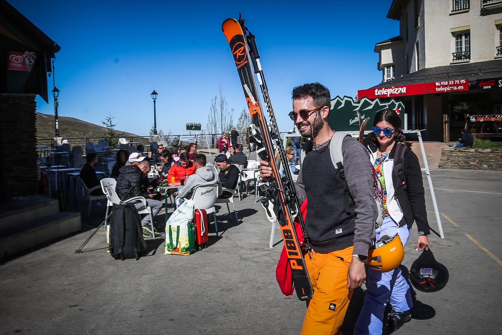
[[[147,183],[145,183],[143,172],[138,165],[122,166],[119,172],[120,174],[117,178],[115,190],[121,200],[127,200],[135,196],[143,196],[147,199],[149,198],[148,191],[146,189],[148,187],[148,178]],[[131,187],[131,193],[127,198],[124,198]]]

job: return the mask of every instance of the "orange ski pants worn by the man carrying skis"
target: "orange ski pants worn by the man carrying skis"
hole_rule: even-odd
[[[352,292],[347,286],[347,272],[354,247],[328,254],[312,250],[312,260],[305,256],[307,271],[314,289],[307,301],[307,313],[301,335],[339,334]],[[341,260],[341,259],[343,260]]]

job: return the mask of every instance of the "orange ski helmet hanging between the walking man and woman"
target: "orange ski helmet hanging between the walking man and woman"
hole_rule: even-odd
[[[384,235],[376,242],[375,249],[368,251],[366,263],[376,271],[389,272],[396,269],[403,262],[404,257],[405,250],[399,234],[395,237]]]

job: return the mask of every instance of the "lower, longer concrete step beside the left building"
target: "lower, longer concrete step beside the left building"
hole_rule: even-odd
[[[80,212],[60,212],[0,229],[0,258],[81,229]]]

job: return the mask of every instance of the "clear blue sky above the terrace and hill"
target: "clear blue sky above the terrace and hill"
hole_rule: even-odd
[[[281,131],[292,128],[291,90],[318,81],[336,95],[382,81],[375,43],[399,35],[386,18],[392,0],[352,1],[42,1],[8,0],[61,46],[56,86],[61,116],[148,135],[205,129],[218,85],[234,123],[245,99],[221,23],[239,12],[256,36]],[[52,78],[49,78],[52,87]],[[37,98],[37,111],[53,114]],[[263,102],[263,100],[262,100]]]

